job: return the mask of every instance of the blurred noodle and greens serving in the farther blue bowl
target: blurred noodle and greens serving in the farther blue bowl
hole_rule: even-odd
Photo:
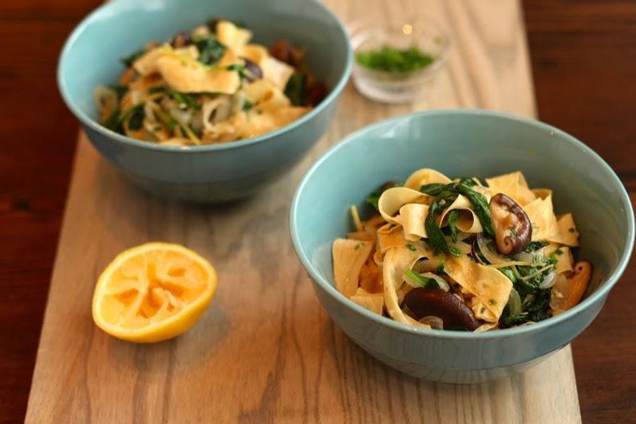
[[[100,124],[165,145],[224,143],[281,128],[324,98],[304,50],[251,39],[247,28],[213,20],[148,43],[124,59],[117,86],[96,88]]]

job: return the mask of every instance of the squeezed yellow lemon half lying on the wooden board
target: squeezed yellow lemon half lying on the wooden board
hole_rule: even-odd
[[[102,272],[93,320],[111,336],[167,340],[194,325],[216,290],[216,271],[181,245],[147,243],[119,254]]]

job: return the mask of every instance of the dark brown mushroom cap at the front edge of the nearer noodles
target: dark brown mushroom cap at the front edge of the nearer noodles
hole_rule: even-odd
[[[471,308],[457,296],[439,288],[413,288],[404,296],[404,304],[418,320],[430,316],[440,317],[444,328],[461,326],[475,331],[482,324]]]

